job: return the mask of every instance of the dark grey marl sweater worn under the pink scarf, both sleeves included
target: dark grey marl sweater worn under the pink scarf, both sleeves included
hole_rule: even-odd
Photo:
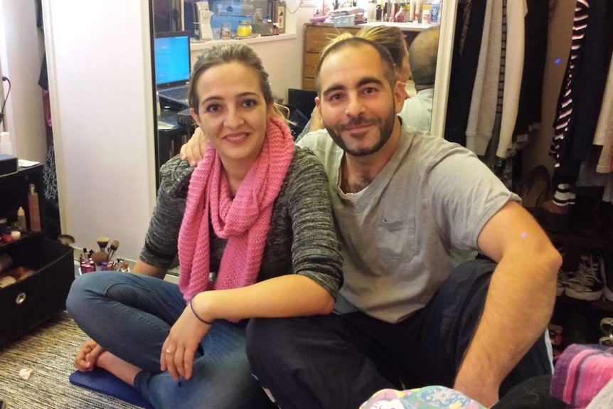
[[[174,260],[192,171],[179,156],[161,166],[156,208],[140,254],[149,265],[168,268]],[[274,201],[258,281],[292,273],[305,275],[336,299],[343,284],[343,262],[329,194],[319,159],[294,147],[294,159]],[[210,229],[210,249],[203,250],[210,251],[210,270],[217,272],[227,240]]]

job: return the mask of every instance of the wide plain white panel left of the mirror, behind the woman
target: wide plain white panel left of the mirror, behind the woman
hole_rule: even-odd
[[[149,2],[83,4],[43,0],[62,231],[134,259],[155,203]]]

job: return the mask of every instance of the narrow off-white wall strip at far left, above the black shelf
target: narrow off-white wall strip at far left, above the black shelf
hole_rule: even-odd
[[[3,125],[11,133],[14,154],[35,161],[43,161],[46,155],[43,98],[38,86],[40,36],[35,1],[0,0],[0,72],[11,80]],[[8,91],[8,83],[4,83],[3,95]]]

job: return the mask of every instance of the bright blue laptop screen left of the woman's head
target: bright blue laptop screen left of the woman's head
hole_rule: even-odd
[[[189,80],[189,37],[160,37],[154,42],[156,85]]]

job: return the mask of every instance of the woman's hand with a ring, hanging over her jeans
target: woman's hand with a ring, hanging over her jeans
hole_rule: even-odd
[[[185,379],[191,378],[193,354],[209,329],[210,325],[203,324],[196,318],[188,305],[170,329],[170,334],[162,345],[161,370],[168,370],[175,381],[181,376]]]

